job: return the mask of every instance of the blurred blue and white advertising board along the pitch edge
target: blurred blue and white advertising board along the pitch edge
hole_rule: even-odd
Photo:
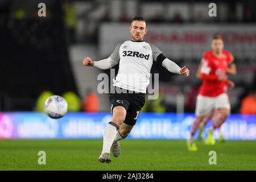
[[[0,113],[0,138],[88,138],[101,139],[111,113],[68,113],[51,119],[44,113]],[[187,139],[194,114],[141,113],[131,139]],[[211,127],[210,121],[206,129]],[[232,114],[221,127],[230,140],[256,140],[256,115]],[[220,132],[214,131],[218,138]],[[206,136],[205,136],[206,137]]]

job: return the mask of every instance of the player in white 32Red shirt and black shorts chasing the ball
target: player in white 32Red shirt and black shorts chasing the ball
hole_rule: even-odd
[[[113,118],[105,127],[102,152],[98,158],[101,163],[112,161],[110,148],[115,157],[119,156],[121,148],[118,141],[126,138],[133,129],[145,102],[153,62],[162,64],[172,73],[186,77],[189,75],[188,68],[180,68],[164,56],[158,47],[144,42],[147,24],[142,17],[135,16],[132,19],[129,31],[131,40],[119,43],[108,59],[93,61],[85,57],[83,61],[84,65],[99,69],[110,69],[119,63],[118,74],[114,79],[116,91],[110,94]]]

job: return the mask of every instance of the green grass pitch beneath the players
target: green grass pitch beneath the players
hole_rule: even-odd
[[[216,142],[189,152],[185,140],[121,141],[121,155],[112,163],[98,162],[102,140],[0,140],[0,170],[255,170],[255,141]],[[46,164],[39,165],[39,151]],[[217,164],[209,164],[209,151],[216,151]]]

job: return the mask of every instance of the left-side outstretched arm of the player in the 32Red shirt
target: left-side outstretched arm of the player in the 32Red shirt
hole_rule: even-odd
[[[84,64],[86,67],[94,67],[99,69],[110,69],[117,63],[118,61],[113,60],[111,57],[108,57],[108,59],[102,59],[100,61],[93,61],[90,59],[90,57],[85,57],[85,59],[82,61],[82,64]]]

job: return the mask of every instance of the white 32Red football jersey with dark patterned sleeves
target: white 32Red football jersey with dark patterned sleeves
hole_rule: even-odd
[[[115,47],[110,56],[119,62],[118,74],[113,80],[114,86],[135,92],[146,93],[150,84],[150,70],[153,60],[163,53],[158,47],[147,42],[127,40]]]

